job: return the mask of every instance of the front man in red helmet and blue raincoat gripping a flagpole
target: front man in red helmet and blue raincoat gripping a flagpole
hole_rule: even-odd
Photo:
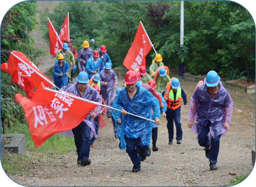
[[[160,106],[158,100],[137,84],[137,75],[134,71],[128,71],[125,75],[126,87],[117,96],[114,108],[122,110],[124,115],[122,130],[120,133],[121,147],[127,148],[127,153],[133,163],[132,172],[140,171],[140,161],[136,147],[139,148],[142,159],[146,159],[146,149],[150,144],[153,122],[141,119],[131,114],[139,115],[147,119],[152,119],[151,107],[154,112],[155,124],[160,125]]]

